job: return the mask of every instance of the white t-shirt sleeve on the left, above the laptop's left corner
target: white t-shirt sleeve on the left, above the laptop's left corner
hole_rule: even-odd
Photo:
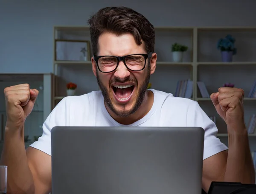
[[[38,141],[35,141],[30,146],[52,155],[51,149],[51,129],[55,126],[66,126],[66,98],[63,98],[48,115],[42,126],[43,134]]]

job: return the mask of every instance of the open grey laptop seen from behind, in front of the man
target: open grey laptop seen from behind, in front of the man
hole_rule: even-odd
[[[52,194],[199,194],[201,127],[54,127]]]

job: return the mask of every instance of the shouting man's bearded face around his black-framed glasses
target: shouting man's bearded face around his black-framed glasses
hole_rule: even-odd
[[[99,37],[98,45],[99,56],[146,53],[144,45],[137,45],[131,34],[117,36],[104,33]],[[136,72],[128,70],[123,62],[119,62],[115,71],[102,73],[93,62],[93,72],[102,90],[105,103],[117,116],[129,116],[142,104],[151,74],[148,64],[147,59],[145,69]]]

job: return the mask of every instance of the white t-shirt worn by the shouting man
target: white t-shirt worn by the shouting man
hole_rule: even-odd
[[[150,89],[154,93],[151,110],[139,121],[125,126],[202,127],[205,130],[204,159],[228,149],[216,137],[218,129],[196,101],[174,97],[170,93]],[[109,115],[101,91],[62,99],[43,124],[43,134],[32,147],[51,155],[51,129],[55,126],[124,126]]]

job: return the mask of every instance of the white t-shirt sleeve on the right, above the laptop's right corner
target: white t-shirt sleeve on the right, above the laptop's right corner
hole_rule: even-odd
[[[204,129],[204,159],[228,149],[227,146],[217,138],[218,129],[215,123],[196,101],[192,101],[192,104],[189,106],[187,126],[202,127]]]

